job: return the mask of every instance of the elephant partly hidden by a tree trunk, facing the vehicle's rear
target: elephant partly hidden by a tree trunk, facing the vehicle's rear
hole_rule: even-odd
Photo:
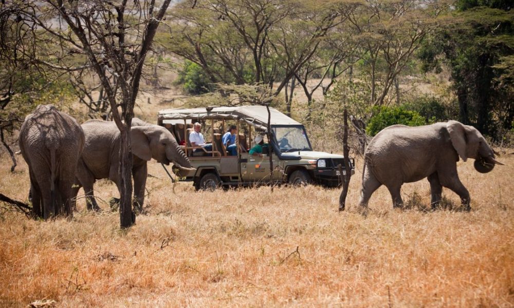
[[[89,120],[82,124],[86,143],[77,168],[74,196],[84,187],[88,209],[99,210],[93,184],[98,179],[111,179],[119,186],[118,168],[120,131],[114,122]],[[132,176],[136,206],[140,209],[144,202],[144,188],[148,171],[146,162],[152,158],[180,169],[190,169],[191,163],[180,149],[173,135],[166,128],[146,123],[134,118],[131,127],[131,148],[134,155]],[[75,208],[75,203],[72,204]]]

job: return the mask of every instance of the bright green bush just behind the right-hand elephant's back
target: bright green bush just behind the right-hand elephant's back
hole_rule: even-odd
[[[380,130],[395,124],[419,126],[425,125],[425,119],[418,112],[402,107],[376,106],[373,108],[373,116],[368,122],[366,132],[370,136],[375,136]]]

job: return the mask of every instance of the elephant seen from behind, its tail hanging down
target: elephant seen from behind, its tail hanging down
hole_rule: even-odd
[[[80,124],[53,105],[39,105],[25,118],[19,143],[29,167],[33,214],[71,217],[71,189],[85,143]]]

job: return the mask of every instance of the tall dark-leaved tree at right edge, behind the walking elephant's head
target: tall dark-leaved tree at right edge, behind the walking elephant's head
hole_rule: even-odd
[[[504,1],[459,0],[445,27],[429,37],[420,57],[425,70],[447,65],[459,120],[497,137],[512,129],[514,95],[508,82],[514,55],[514,12]]]

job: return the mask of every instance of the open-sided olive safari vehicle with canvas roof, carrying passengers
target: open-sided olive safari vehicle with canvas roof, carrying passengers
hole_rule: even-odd
[[[265,106],[206,107],[166,109],[158,113],[157,123],[171,131],[196,170],[173,169],[175,175],[192,181],[196,190],[256,184],[340,185],[343,174],[342,155],[313,151],[305,127],[274,108],[270,109],[272,140],[263,146],[263,155],[249,154],[252,137],[267,134],[268,111]],[[193,123],[202,125],[206,142],[211,139],[212,150],[193,147],[189,134]],[[229,156],[222,136],[228,124],[236,125],[237,155]],[[195,149],[197,149],[195,151]],[[202,156],[196,156],[200,152]],[[273,172],[270,176],[269,155],[272,153]],[[354,172],[354,160],[350,160]]]

